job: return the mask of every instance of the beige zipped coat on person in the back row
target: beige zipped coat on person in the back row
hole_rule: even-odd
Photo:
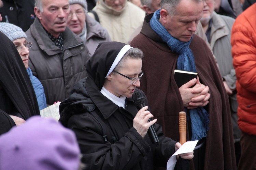
[[[98,0],[93,11],[97,13],[101,26],[108,31],[111,40],[126,44],[145,17],[145,11],[128,1],[121,11],[116,11],[103,0]],[[88,15],[95,18],[92,13]]]

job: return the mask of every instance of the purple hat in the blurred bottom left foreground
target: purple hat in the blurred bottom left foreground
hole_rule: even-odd
[[[33,116],[0,136],[0,169],[76,170],[80,150],[72,130]]]

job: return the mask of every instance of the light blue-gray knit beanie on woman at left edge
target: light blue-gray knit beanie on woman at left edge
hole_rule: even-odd
[[[22,31],[21,28],[10,23],[0,22],[0,31],[8,36],[11,41],[14,41],[18,38],[27,39],[27,35],[24,31]]]

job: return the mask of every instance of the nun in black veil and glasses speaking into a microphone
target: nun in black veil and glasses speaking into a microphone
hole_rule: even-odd
[[[76,134],[84,169],[154,169],[166,167],[180,148],[164,137],[149,111],[145,94],[137,89],[143,52],[119,42],[100,43],[85,63],[88,77],[77,82],[59,106],[59,121]],[[137,110],[132,94],[141,92],[145,107]],[[159,142],[153,144],[148,128],[153,125]],[[193,158],[192,153],[179,155]]]

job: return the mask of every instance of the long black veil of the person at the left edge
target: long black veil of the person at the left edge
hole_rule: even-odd
[[[33,115],[40,115],[34,88],[17,49],[2,32],[0,32],[0,40],[0,85],[2,90],[6,92],[6,97],[11,99],[25,120]],[[2,101],[5,99],[1,98]],[[3,110],[0,114],[3,115]]]

